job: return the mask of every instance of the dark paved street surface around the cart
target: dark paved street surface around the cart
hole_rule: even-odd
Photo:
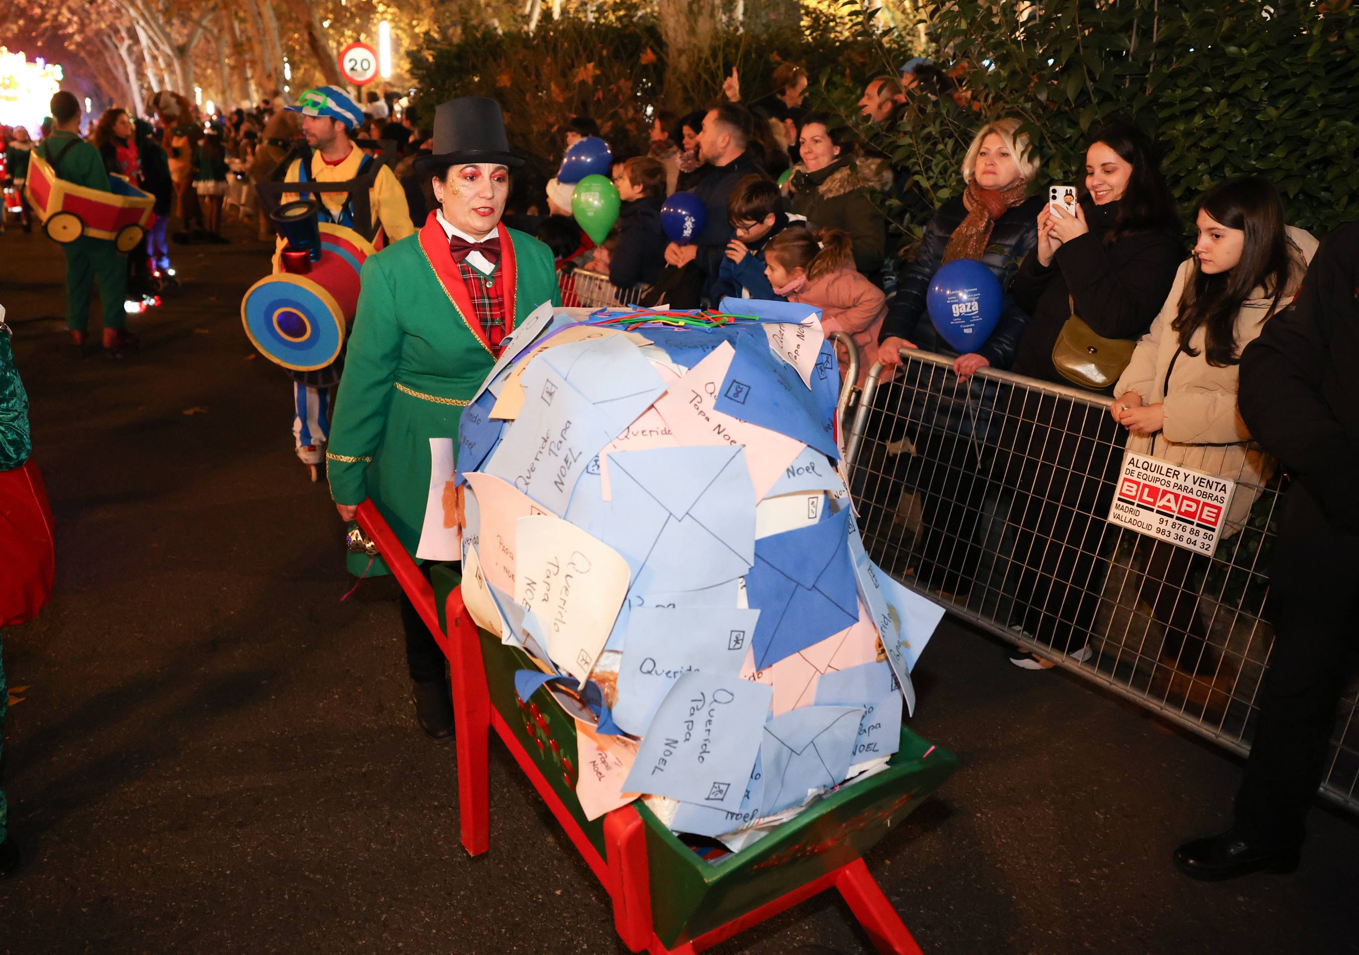
[[[29,856],[0,952],[622,952],[603,890],[492,743],[491,844],[417,729],[395,588],[348,600],[341,524],[292,454],[287,378],[241,329],[265,246],[175,246],[125,361],[64,333],[57,247],[0,235],[0,303],[57,520],[57,588],[8,630],[4,785]],[[3,569],[0,569],[3,572]],[[1239,765],[946,624],[912,727],[962,769],[868,856],[927,952],[1359,951],[1356,821],[1305,869],[1197,884]],[[719,951],[868,951],[833,897]]]

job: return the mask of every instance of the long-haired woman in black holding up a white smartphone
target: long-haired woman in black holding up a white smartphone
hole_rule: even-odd
[[[1184,239],[1155,144],[1131,122],[1099,129],[1086,149],[1084,194],[1074,215],[1046,204],[1037,221],[1038,243],[1010,284],[1014,302],[1031,315],[1012,371],[1108,394],[1099,380],[1064,375],[1055,356],[1074,315],[1102,338],[1136,341],[1170,291]],[[1098,553],[1123,433],[1089,405],[1033,393],[1014,394],[1003,406],[1021,405],[1000,440],[1014,451],[1003,473],[1010,520],[1018,524],[1011,577],[1023,600],[1011,621],[1045,645],[1083,656],[1108,571]],[[1056,647],[1059,630],[1072,641]],[[1012,660],[1044,666],[1030,655]]]

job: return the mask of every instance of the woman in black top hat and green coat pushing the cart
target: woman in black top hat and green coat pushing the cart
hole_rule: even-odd
[[[416,160],[439,208],[419,234],[363,264],[326,471],[344,520],[371,497],[412,554],[428,500],[429,439],[457,439],[503,338],[538,306],[561,303],[552,251],[500,221],[510,170],[523,163],[510,152],[497,102],[440,103],[432,154]],[[351,572],[366,572],[370,560],[386,572],[363,554],[351,554]],[[420,727],[448,739],[443,655],[405,595],[401,618]]]

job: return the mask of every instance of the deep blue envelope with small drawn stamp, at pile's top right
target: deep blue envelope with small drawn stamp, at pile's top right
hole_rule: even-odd
[[[727,376],[722,379],[713,408],[734,418],[794,437],[839,461],[834,416],[840,378],[836,375],[830,380],[821,374],[825,342],[818,365],[811,372],[811,394],[807,394],[798,370],[769,350],[764,329],[758,333],[758,340],[747,338],[741,342],[727,367]],[[834,352],[830,352],[830,360],[834,361]]]

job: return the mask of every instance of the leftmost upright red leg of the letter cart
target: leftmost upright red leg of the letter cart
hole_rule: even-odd
[[[491,694],[481,663],[481,637],[462,603],[448,595],[448,678],[458,735],[458,818],[462,846],[473,856],[491,848],[491,796],[487,740],[491,734]]]

